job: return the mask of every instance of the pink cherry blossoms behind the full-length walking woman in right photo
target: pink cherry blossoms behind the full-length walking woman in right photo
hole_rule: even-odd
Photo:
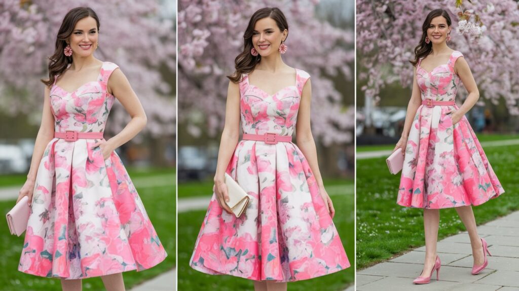
[[[409,60],[425,17],[436,8],[449,12],[448,46],[463,53],[481,95],[495,104],[504,98],[509,112],[519,114],[519,9],[514,0],[357,0],[358,80],[367,81],[362,88],[366,106],[387,84],[400,81],[411,88]]]

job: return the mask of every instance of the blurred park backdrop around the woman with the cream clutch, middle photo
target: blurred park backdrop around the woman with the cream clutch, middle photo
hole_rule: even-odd
[[[252,13],[278,7],[289,24],[283,61],[312,78],[312,133],[334,222],[354,266],[354,1],[179,1],[179,290],[252,289],[250,280],[211,276],[188,265],[207,205],[224,125],[228,79]],[[344,272],[289,284],[290,290],[343,290]]]

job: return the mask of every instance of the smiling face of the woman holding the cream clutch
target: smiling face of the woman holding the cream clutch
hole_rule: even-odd
[[[285,40],[287,34],[288,30],[281,31],[274,19],[262,18],[254,24],[252,45],[262,57],[279,53],[281,40]]]

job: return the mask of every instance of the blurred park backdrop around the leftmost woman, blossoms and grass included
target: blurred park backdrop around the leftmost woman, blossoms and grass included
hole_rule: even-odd
[[[0,208],[7,213],[29,170],[42,113],[48,57],[66,12],[89,6],[100,18],[95,57],[118,64],[145,109],[145,130],[116,151],[144,202],[168,252],[166,261],[143,272],[124,273],[126,287],[170,271],[175,264],[175,90],[176,2],[0,0]],[[104,137],[117,134],[130,120],[116,102]],[[57,279],[19,272],[23,245],[0,224],[2,290],[61,290]],[[174,284],[174,282],[172,282]],[[101,290],[99,278],[87,279],[85,290]]]

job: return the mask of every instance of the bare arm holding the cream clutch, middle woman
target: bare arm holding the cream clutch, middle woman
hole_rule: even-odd
[[[240,135],[240,87],[229,81],[227,102],[225,104],[225,126],[218,150],[216,173],[214,174],[214,192],[218,203],[227,212],[231,212],[225,201],[229,201],[227,187],[224,183],[224,174],[227,165],[233,156]]]

